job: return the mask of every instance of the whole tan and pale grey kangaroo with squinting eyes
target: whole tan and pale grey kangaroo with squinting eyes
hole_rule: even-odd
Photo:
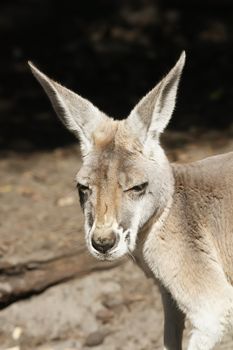
[[[136,105],[113,120],[34,65],[61,121],[80,140],[77,188],[85,239],[97,259],[127,254],[160,286],[164,349],[209,350],[233,323],[233,152],[170,163],[160,134],[175,107],[183,52]]]

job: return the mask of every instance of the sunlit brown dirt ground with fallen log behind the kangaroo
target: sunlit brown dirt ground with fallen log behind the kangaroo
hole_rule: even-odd
[[[187,162],[232,151],[232,136],[230,128],[168,132],[163,144],[172,161]],[[1,154],[0,350],[162,347],[158,287],[133,261],[109,268],[86,251],[74,186],[80,164],[74,145]],[[187,325],[185,344],[188,333]],[[232,348],[228,335],[216,349]]]

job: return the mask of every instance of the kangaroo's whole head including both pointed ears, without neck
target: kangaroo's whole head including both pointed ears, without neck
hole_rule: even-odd
[[[169,162],[159,144],[175,106],[185,53],[132,110],[107,117],[86,99],[48,78],[30,63],[59,118],[81,144],[77,188],[90,252],[114,260],[132,253],[137,234],[163,212],[173,190]]]

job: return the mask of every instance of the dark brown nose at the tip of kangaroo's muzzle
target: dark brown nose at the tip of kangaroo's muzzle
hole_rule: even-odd
[[[100,232],[94,232],[91,244],[100,253],[107,253],[110,249],[114,247],[116,243],[116,234],[113,231],[102,234]]]

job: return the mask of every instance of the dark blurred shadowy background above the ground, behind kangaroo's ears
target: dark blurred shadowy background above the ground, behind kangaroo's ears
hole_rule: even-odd
[[[28,59],[110,116],[123,118],[185,49],[169,128],[232,126],[232,0],[1,0],[0,41],[2,150],[74,141],[32,77]]]

